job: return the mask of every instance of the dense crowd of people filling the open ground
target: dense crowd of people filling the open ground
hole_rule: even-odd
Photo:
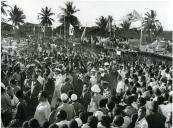
[[[170,65],[117,62],[41,41],[1,58],[3,127],[172,127]]]

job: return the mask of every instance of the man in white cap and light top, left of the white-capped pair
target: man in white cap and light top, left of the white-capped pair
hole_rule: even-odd
[[[75,110],[73,105],[68,104],[68,96],[66,93],[61,94],[61,101],[63,102],[61,106],[57,108],[57,110],[64,110],[67,113],[67,120],[71,120],[75,117]]]

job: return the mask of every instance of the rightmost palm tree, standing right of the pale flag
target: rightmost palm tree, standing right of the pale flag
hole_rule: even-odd
[[[154,10],[150,10],[145,14],[143,21],[144,31],[148,34],[148,42],[153,42],[157,36],[163,32],[163,27],[159,20],[156,19],[156,12]]]

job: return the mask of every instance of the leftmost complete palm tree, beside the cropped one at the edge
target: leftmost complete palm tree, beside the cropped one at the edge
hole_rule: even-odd
[[[9,16],[9,21],[12,22],[13,27],[20,27],[20,25],[24,23],[24,19],[26,18],[23,10],[18,8],[16,5],[9,11]]]

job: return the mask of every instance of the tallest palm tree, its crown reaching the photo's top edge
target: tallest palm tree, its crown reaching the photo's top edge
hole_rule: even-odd
[[[59,21],[66,26],[66,31],[68,31],[70,24],[72,26],[79,26],[80,22],[78,18],[74,15],[76,12],[80,11],[76,8],[76,6],[73,5],[73,2],[66,2],[65,8],[61,8],[62,15],[60,16]]]

